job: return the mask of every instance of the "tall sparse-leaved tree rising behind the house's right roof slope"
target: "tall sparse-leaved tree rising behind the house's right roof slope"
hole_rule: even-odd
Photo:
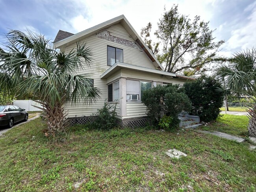
[[[217,55],[224,41],[214,41],[214,30],[210,30],[209,22],[200,20],[200,16],[191,20],[178,12],[177,5],[165,10],[159,19],[158,30],[154,32],[157,42],[150,38],[151,29],[149,22],[142,28],[141,37],[167,72],[191,76],[207,70],[207,63],[226,61]]]

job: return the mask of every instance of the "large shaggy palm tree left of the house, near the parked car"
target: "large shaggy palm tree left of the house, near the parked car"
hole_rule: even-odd
[[[66,102],[88,104],[100,95],[89,79],[91,74],[76,73],[92,63],[91,49],[80,42],[76,45],[65,54],[43,35],[11,30],[5,48],[0,48],[0,88],[13,95],[30,95],[41,104],[48,125],[46,136],[65,131]]]

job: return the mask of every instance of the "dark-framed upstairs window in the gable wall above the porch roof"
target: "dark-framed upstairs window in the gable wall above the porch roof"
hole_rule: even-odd
[[[112,66],[117,62],[123,63],[123,50],[108,46],[108,65]]]

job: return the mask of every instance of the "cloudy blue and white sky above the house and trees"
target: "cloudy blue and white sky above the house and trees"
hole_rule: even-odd
[[[216,41],[224,40],[220,55],[231,56],[256,45],[256,0],[0,0],[0,42],[4,33],[31,30],[54,40],[59,30],[78,33],[124,15],[140,34],[152,31],[164,12],[178,4],[181,14],[210,21]]]

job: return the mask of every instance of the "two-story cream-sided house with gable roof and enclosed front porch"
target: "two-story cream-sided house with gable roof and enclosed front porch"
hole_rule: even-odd
[[[128,20],[121,15],[80,33],[59,30],[54,46],[68,53],[76,42],[86,42],[93,52],[91,68],[77,71],[92,74],[95,87],[102,91],[101,99],[91,105],[65,105],[68,118],[85,123],[88,116],[102,108],[104,101],[117,101],[117,117],[125,126],[145,123],[146,106],[141,103],[141,92],[157,85],[183,85],[189,78],[164,72],[163,66],[148,49]]]

